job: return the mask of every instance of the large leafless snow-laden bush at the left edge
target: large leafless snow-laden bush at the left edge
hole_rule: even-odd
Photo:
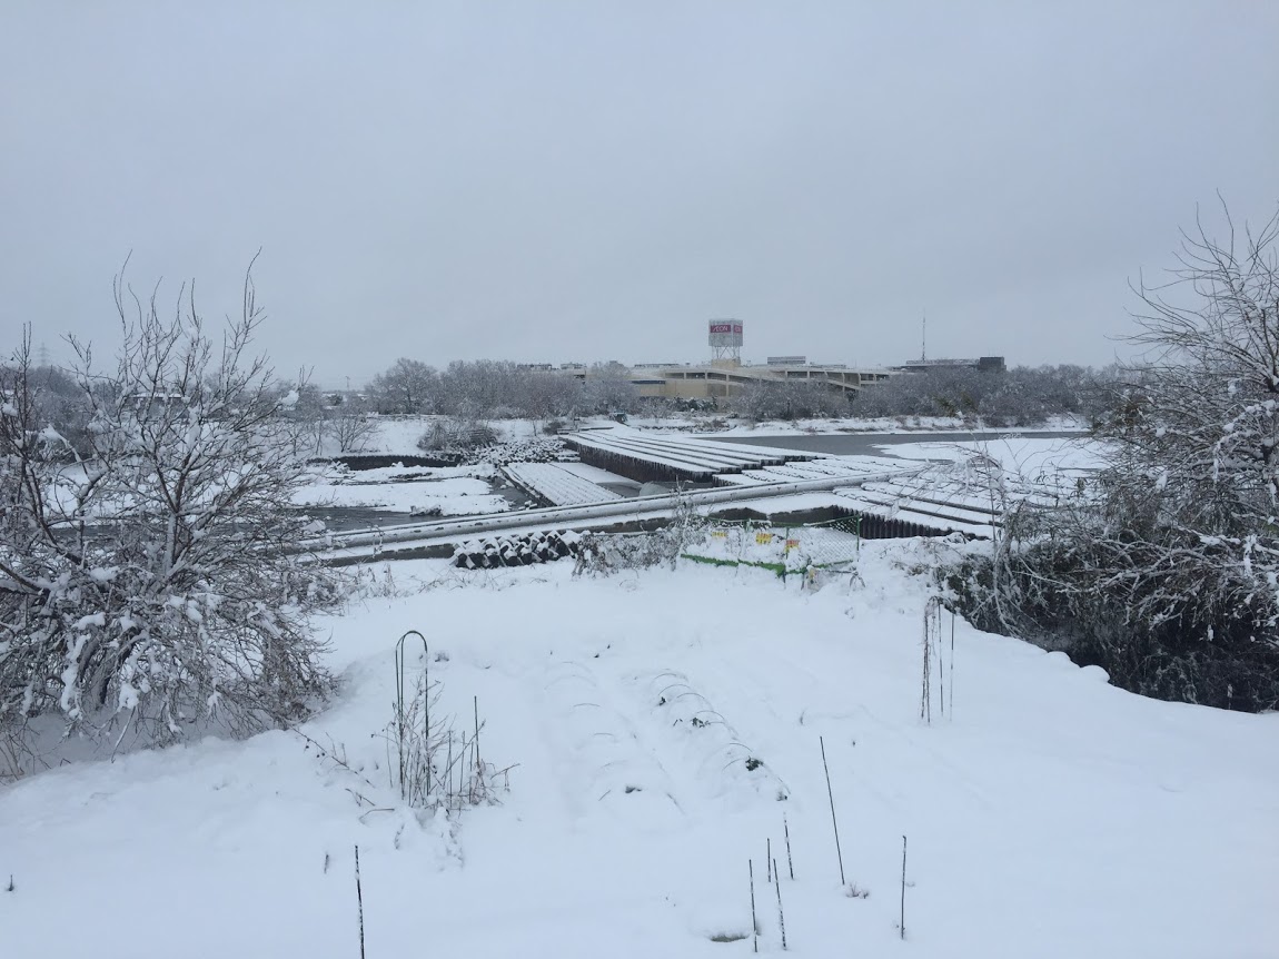
[[[73,341],[84,455],[67,464],[36,418],[29,353],[4,373],[0,730],[56,717],[147,744],[302,716],[329,687],[307,614],[333,581],[283,549],[303,540],[289,504],[304,467],[249,353],[252,281],[220,343],[193,298],[166,321],[123,280],[115,293],[114,370]]]

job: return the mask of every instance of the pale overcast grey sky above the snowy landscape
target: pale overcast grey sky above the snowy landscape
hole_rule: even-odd
[[[1105,363],[1220,191],[1279,201],[1279,4],[0,0],[0,345],[255,276],[283,372]]]

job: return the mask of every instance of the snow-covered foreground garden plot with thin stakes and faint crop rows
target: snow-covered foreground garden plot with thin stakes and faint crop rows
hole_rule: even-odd
[[[923,549],[866,543],[863,584],[817,592],[399,564],[436,586],[322,624],[344,684],[304,731],[359,776],[278,731],[5,788],[0,955],[357,956],[356,844],[371,958],[749,955],[748,859],[778,953],[771,840],[801,955],[1274,956],[1279,716],[1143,699],[958,621],[926,725]],[[407,629],[446,656],[449,708],[478,697],[486,758],[518,763],[500,806],[422,820],[388,788]],[[867,898],[840,887],[819,738]]]

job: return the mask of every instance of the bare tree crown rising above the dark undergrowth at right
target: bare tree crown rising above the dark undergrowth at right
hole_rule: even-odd
[[[1137,286],[1128,340],[1145,349],[1100,432],[1115,468],[1145,477],[1161,518],[1232,536],[1270,529],[1279,500],[1279,214],[1225,238],[1201,220],[1179,266]]]

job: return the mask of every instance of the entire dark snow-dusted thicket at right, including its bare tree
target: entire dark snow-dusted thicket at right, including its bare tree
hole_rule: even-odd
[[[1279,707],[1279,216],[1187,237],[1138,289],[1147,349],[1085,495],[1023,505],[953,583],[980,625],[1055,642],[1141,693]]]

